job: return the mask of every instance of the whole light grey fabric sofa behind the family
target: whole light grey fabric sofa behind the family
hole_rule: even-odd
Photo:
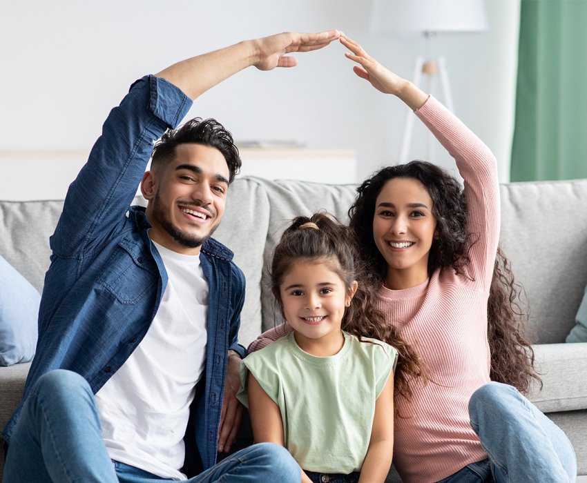
[[[247,277],[242,344],[276,321],[264,268],[288,221],[319,209],[346,220],[354,195],[352,185],[253,177],[233,183],[215,237],[234,250]],[[587,475],[587,344],[564,343],[587,284],[587,179],[503,184],[501,202],[501,244],[526,288],[544,383],[530,399],[564,429],[575,446],[578,473]],[[61,201],[0,201],[0,255],[39,291],[61,207]],[[28,366],[0,367],[0,426],[21,398]]]

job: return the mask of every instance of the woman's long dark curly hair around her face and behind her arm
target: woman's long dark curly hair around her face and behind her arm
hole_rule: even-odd
[[[373,217],[381,189],[396,177],[420,181],[432,199],[437,237],[430,248],[428,275],[438,268],[452,268],[456,273],[470,276],[469,249],[474,239],[467,231],[468,210],[463,188],[448,172],[426,161],[387,166],[357,188],[358,197],[349,209],[349,225],[356,233],[367,270],[374,274],[379,286],[385,282],[387,262],[373,238]],[[527,393],[532,378],[539,381],[539,377],[534,369],[534,351],[525,334],[528,311],[523,310],[527,304],[521,302],[521,295],[523,289],[514,279],[510,262],[498,248],[488,300],[490,378]]]

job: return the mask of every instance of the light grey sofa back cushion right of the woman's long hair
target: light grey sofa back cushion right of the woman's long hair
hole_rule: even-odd
[[[501,186],[501,245],[540,344],[565,342],[587,284],[587,180]]]

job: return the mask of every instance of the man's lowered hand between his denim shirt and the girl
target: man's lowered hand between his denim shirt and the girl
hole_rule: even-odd
[[[240,356],[235,351],[229,351],[227,364],[227,381],[224,385],[224,399],[220,415],[220,430],[218,431],[218,451],[228,453],[231,449],[242,417],[242,404],[238,402],[236,393],[240,388]]]

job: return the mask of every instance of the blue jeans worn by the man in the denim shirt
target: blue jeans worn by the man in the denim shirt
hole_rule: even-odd
[[[300,466],[282,446],[264,443],[238,451],[188,481],[278,480],[299,483]],[[39,377],[10,440],[4,483],[154,481],[166,480],[110,460],[95,398],[83,377],[63,370]]]

